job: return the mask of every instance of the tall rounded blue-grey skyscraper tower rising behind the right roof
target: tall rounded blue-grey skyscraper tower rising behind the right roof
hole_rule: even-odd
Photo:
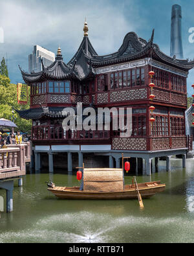
[[[176,55],[177,59],[183,59],[181,19],[181,6],[173,5],[171,12],[171,57]]]

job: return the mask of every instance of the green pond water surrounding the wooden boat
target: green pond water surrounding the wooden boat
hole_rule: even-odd
[[[47,191],[48,180],[79,185],[76,172],[65,171],[28,173],[23,187],[15,181],[14,212],[1,213],[0,242],[194,242],[194,159],[186,169],[171,159],[171,172],[159,161],[151,177],[136,176],[166,183],[166,191],[143,200],[144,210],[138,200],[59,200]]]

